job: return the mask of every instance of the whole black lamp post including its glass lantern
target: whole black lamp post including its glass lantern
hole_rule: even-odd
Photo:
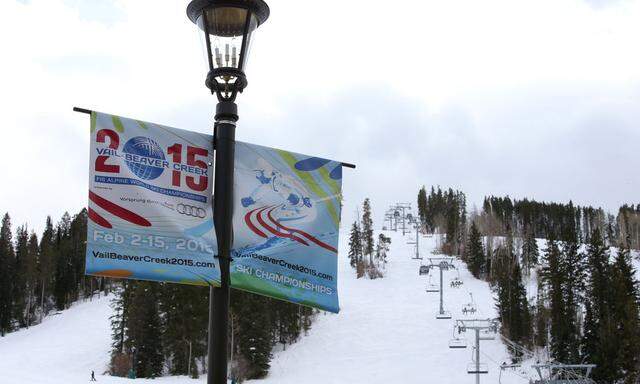
[[[220,287],[209,293],[208,384],[227,383],[230,262],[233,242],[233,170],[238,108],[247,86],[251,37],[269,17],[262,0],[192,0],[187,16],[204,33],[209,73],[205,85],[218,98],[214,125],[215,179],[213,220],[218,240]]]

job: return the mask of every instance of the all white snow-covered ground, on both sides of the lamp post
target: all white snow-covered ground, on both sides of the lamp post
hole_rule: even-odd
[[[476,318],[496,316],[493,294],[486,282],[473,278],[460,261],[461,288],[450,288],[455,270],[444,272],[445,310],[452,320],[436,320],[438,293],[427,293],[427,276],[419,276],[421,263],[439,257],[431,251],[437,236],[420,239],[423,261],[414,260],[414,233],[384,232],[392,239],[387,256],[386,276],[382,279],[356,279],[347,257],[348,231],[342,231],[338,262],[340,314],[320,313],[308,335],[286,350],[274,352],[269,375],[252,384],[378,384],[401,383],[473,383],[466,373],[471,363],[473,334],[468,332],[467,349],[449,349],[456,318],[469,292],[478,306]],[[379,233],[379,232],[377,232]],[[376,233],[376,236],[377,236]],[[540,252],[545,247],[539,241]],[[638,263],[634,262],[636,269]],[[433,282],[438,281],[438,271]],[[638,271],[640,276],[640,271]],[[535,278],[527,283],[529,297],[536,293]],[[0,338],[0,384],[71,384],[89,382],[91,370],[99,383],[131,383],[130,379],[104,375],[110,353],[108,297],[81,302],[59,315],[29,329]],[[470,318],[470,317],[466,317]],[[489,373],[482,383],[498,383],[499,363],[508,361],[502,342],[481,342],[481,362]],[[504,384],[527,383],[519,371],[505,371]],[[533,377],[533,372],[527,372]],[[204,376],[193,380],[185,376],[138,379],[143,383],[204,383]]]

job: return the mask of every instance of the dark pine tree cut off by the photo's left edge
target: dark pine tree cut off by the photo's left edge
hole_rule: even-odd
[[[11,218],[5,213],[0,227],[0,336],[12,330],[13,274],[15,254],[11,235]]]

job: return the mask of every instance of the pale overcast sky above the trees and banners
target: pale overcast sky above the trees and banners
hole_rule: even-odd
[[[89,121],[73,106],[211,132],[186,3],[0,2],[0,212],[14,227],[86,205]],[[237,138],[356,163],[344,220],[369,196],[380,224],[423,184],[478,205],[640,201],[640,1],[269,5]]]

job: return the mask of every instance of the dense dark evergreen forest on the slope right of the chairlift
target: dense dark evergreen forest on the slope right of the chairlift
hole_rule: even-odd
[[[433,215],[425,213],[421,219]],[[592,376],[599,383],[631,384],[640,377],[640,289],[631,256],[637,215],[634,206],[613,217],[571,202],[490,196],[470,215],[457,255],[490,283],[503,336],[556,362],[596,364]],[[458,219],[440,222],[448,220]],[[422,223],[423,230],[442,233]],[[527,276],[537,277],[531,297]],[[521,351],[510,352],[522,359]]]

